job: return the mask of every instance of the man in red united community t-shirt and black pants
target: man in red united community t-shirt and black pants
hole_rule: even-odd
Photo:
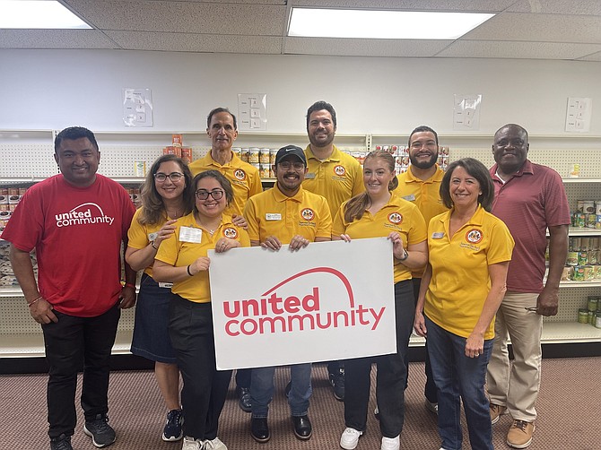
[[[100,151],[90,130],[57,134],[54,156],[61,174],[28,189],[2,238],[11,242],[14,274],[44,333],[50,448],[72,449],[81,368],[83,431],[94,446],[109,446],[115,441],[107,417],[110,350],[120,308],[135,304],[135,272],[127,265],[125,286],[120,282],[121,245],[135,207],[122,186],[96,174]]]

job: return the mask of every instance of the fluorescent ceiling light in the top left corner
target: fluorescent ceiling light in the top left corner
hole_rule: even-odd
[[[91,26],[53,0],[0,0],[0,29],[90,29]]]

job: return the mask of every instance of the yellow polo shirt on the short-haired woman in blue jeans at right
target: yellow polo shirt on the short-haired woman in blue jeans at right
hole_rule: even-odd
[[[434,217],[428,227],[432,278],[423,311],[449,333],[468,337],[491,290],[488,266],[510,261],[514,241],[505,223],[482,206],[449,237],[451,212]],[[493,337],[494,320],[484,339]]]

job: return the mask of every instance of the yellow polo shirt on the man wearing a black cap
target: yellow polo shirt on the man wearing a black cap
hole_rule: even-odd
[[[292,197],[282,194],[277,183],[271,189],[248,199],[244,210],[250,240],[263,242],[269,236],[290,244],[300,235],[309,241],[332,237],[332,216],[327,201],[300,186]]]

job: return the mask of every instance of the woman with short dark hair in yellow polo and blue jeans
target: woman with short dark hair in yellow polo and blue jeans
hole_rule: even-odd
[[[470,445],[492,450],[484,383],[493,319],[505,295],[514,241],[505,224],[489,212],[494,186],[480,161],[452,162],[442,178],[440,197],[450,210],[432,218],[428,227],[429,263],[414,328],[428,339],[441,448],[461,449],[463,400]]]

